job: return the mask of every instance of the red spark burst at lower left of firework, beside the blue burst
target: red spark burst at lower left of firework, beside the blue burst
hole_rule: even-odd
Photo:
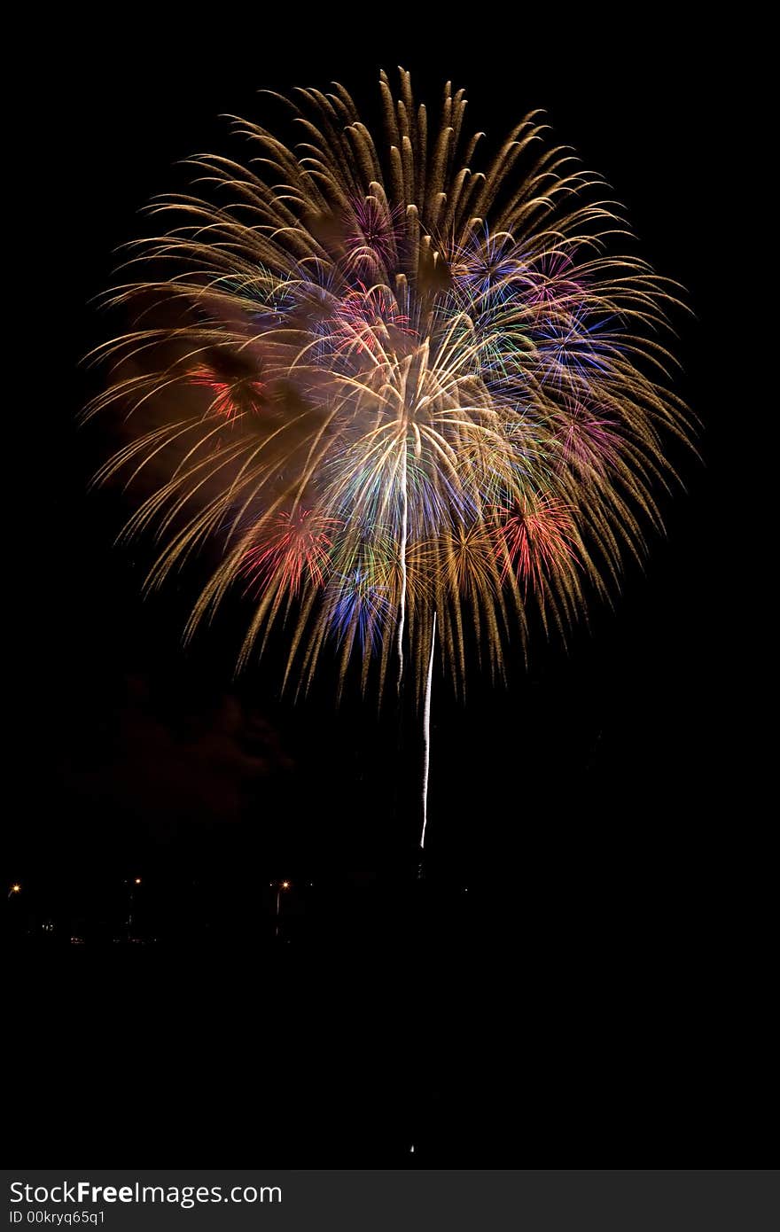
[[[338,526],[335,519],[320,517],[301,505],[292,513],[278,513],[262,527],[261,542],[246,552],[242,572],[258,589],[276,580],[293,596],[304,582],[322,586]]]

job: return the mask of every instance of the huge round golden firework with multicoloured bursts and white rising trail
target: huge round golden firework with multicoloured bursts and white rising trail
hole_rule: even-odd
[[[287,103],[298,145],[237,120],[246,165],[192,160],[202,195],[152,207],[173,221],[111,297],[134,328],[90,413],[136,430],[100,478],[139,492],[147,585],[209,562],[186,637],[238,585],[239,667],[285,626],[296,694],[330,647],[339,687],[356,663],[381,697],[396,659],[425,707],[434,637],[462,696],[474,647],[502,675],[619,586],[690,421],[676,290],[621,253],[599,176],[535,112],[481,169],[462,91],[436,126],[407,73],[380,87],[383,139],[335,85]]]

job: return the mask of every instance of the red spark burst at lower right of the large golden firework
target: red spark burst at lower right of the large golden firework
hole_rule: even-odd
[[[525,590],[529,584],[541,595],[542,578],[571,568],[577,562],[573,551],[574,524],[563,504],[552,496],[522,500],[500,511],[497,549],[502,561],[502,580],[514,570]]]

